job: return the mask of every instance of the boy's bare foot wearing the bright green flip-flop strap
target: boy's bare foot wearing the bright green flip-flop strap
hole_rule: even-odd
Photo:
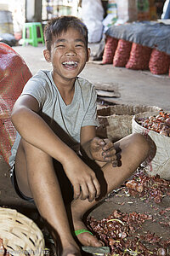
[[[74,218],[73,223],[74,223],[75,230],[88,230],[85,224],[83,224],[82,219]],[[104,243],[102,241],[99,241],[95,236],[91,235],[88,232],[84,232],[82,234],[77,235],[77,239],[82,243],[83,246],[88,246],[88,247],[104,246]]]

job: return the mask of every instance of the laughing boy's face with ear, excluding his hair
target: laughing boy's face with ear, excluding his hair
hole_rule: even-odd
[[[69,28],[59,36],[53,36],[51,51],[44,50],[46,61],[51,62],[54,79],[75,79],[88,61],[89,49],[83,36],[74,28]]]

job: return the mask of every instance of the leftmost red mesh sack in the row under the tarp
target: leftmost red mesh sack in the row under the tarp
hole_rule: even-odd
[[[112,64],[115,55],[118,40],[116,38],[106,37],[105,49],[103,54],[103,64]]]

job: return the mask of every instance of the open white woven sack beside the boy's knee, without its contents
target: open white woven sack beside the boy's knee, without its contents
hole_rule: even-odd
[[[161,178],[170,180],[170,137],[161,135],[156,131],[150,131],[137,123],[139,118],[157,114],[159,114],[159,112],[138,113],[134,115],[132,120],[132,129],[133,133],[139,132],[144,134],[145,137],[150,137],[156,145],[155,156],[152,158],[151,154],[153,152],[150,150],[150,156],[147,161],[144,162],[144,165],[146,166],[145,171],[149,176],[155,176],[158,174]]]

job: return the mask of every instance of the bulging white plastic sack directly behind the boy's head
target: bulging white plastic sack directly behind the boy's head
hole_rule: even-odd
[[[101,0],[82,0],[82,20],[88,27],[88,43],[98,43],[102,38],[104,9]]]

